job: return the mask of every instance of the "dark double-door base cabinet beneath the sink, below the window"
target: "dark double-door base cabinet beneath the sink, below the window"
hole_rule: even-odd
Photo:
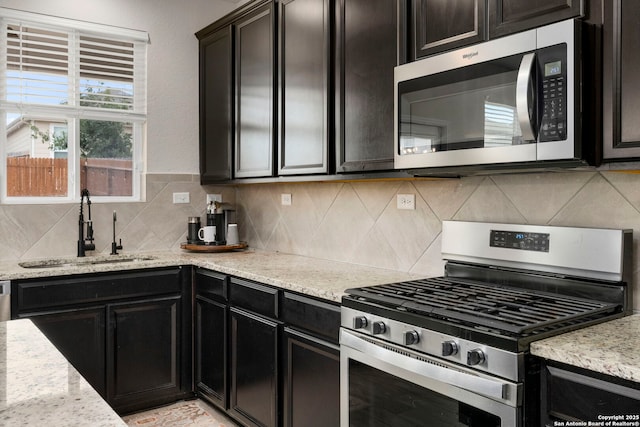
[[[120,414],[193,396],[191,268],[12,282],[30,318]]]

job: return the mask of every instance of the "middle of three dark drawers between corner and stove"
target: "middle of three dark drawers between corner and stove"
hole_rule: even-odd
[[[279,290],[236,277],[231,278],[229,300],[233,306],[277,319]]]

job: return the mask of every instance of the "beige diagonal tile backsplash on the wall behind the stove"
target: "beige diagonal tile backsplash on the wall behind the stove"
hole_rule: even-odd
[[[283,206],[281,194],[291,194]],[[415,194],[399,210],[397,194]],[[237,187],[241,238],[252,247],[442,274],[443,220],[624,228],[634,231],[638,292],[640,175],[546,172],[461,179],[261,184]]]

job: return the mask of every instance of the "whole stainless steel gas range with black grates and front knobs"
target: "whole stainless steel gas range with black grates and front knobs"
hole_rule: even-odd
[[[347,290],[341,426],[539,425],[535,340],[631,311],[631,231],[445,221],[442,277]]]

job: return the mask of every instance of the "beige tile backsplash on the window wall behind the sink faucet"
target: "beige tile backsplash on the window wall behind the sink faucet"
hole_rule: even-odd
[[[233,187],[202,187],[197,175],[148,175],[146,192],[146,202],[92,202],[96,251],[88,255],[111,252],[114,210],[118,214],[116,239],[122,239],[122,253],[179,251],[180,242],[186,241],[188,217],[204,218],[208,192],[235,202]],[[174,192],[189,192],[190,203],[174,204]],[[78,214],[79,204],[75,203],[0,205],[0,260],[76,256]]]

